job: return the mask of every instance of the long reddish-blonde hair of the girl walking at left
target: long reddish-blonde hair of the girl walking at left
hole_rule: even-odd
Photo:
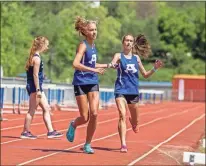
[[[44,36],[38,36],[33,40],[32,46],[30,49],[30,54],[29,54],[29,57],[26,61],[26,65],[25,65],[26,70],[28,70],[29,66],[31,66],[32,58],[33,58],[33,55],[35,54],[35,52],[38,50],[41,50],[45,46],[46,41],[48,41],[48,39]]]

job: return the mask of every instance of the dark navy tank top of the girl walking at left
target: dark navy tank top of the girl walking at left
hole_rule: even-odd
[[[40,57],[38,54],[34,54],[34,56]],[[39,84],[43,83],[44,80],[44,72],[43,72],[44,64],[43,61],[40,61],[40,66],[39,66]],[[27,75],[27,84],[32,84],[34,85],[34,76],[33,76],[33,71],[34,71],[34,66],[29,66],[29,69],[26,71]]]

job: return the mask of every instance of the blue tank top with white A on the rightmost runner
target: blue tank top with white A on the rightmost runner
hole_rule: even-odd
[[[124,54],[121,53],[114,93],[138,95],[138,80],[139,75],[137,57],[132,55],[131,59],[127,59]]]

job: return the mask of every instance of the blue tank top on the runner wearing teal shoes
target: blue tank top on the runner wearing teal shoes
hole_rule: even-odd
[[[86,40],[83,41],[86,44],[86,51],[81,59],[81,64],[95,68],[97,61],[97,50],[95,47],[91,47]],[[91,71],[75,70],[73,77],[73,85],[89,85],[98,84],[98,74]]]

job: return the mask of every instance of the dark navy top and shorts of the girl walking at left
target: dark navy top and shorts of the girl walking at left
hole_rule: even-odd
[[[34,54],[34,56],[40,57],[38,54]],[[39,66],[39,73],[38,73],[40,91],[43,91],[43,89],[42,89],[42,84],[43,84],[43,80],[44,80],[43,69],[44,69],[44,64],[43,64],[43,61],[41,60],[40,66]],[[26,89],[27,89],[27,92],[28,92],[29,95],[30,95],[31,93],[36,92],[36,86],[35,86],[35,84],[34,84],[33,72],[34,72],[34,66],[29,66],[29,69],[28,69],[27,72],[26,72],[26,74],[27,74],[27,85],[26,85]]]

